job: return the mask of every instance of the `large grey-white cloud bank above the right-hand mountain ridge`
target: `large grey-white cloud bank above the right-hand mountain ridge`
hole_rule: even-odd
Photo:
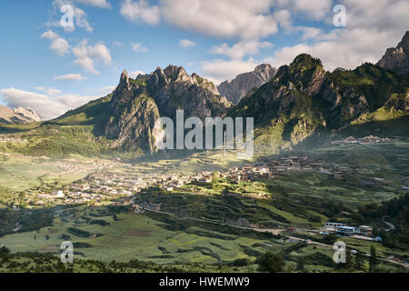
[[[313,40],[282,47],[264,61],[278,66],[292,62],[301,53],[322,60],[326,70],[351,69],[364,62],[376,63],[388,47],[394,47],[409,27],[409,2],[403,0],[342,0],[346,7],[346,27],[324,34],[319,28],[298,26],[303,40]]]

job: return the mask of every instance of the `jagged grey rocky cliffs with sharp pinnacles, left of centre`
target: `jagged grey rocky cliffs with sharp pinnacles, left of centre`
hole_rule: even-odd
[[[230,103],[216,86],[199,75],[187,75],[181,66],[158,67],[151,75],[129,78],[121,75],[106,113],[105,136],[113,146],[140,147],[154,153],[160,131],[156,120],[171,117],[176,110],[185,111],[185,118],[224,116]]]

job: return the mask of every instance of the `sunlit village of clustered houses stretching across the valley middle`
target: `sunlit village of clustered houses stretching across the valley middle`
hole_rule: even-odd
[[[130,165],[119,162],[94,161],[87,165],[95,169],[96,172],[86,176],[84,179],[59,189],[52,189],[51,193],[41,191],[36,193],[35,199],[29,196],[26,202],[32,206],[45,205],[131,205],[135,196],[141,190],[155,186],[172,192],[175,189],[191,184],[210,184],[213,180],[212,172],[201,172],[195,175],[133,175],[117,174],[110,172],[110,169],[118,166],[130,167]],[[66,167],[67,171],[79,171],[84,167],[72,167],[69,161],[60,162],[61,167]],[[242,182],[254,182],[258,180],[273,180],[277,176],[287,176],[290,171],[304,171],[322,173],[334,179],[346,179],[353,173],[353,169],[346,165],[325,162],[310,158],[309,156],[286,156],[279,159],[269,159],[254,164],[244,164],[241,167],[232,167],[226,170],[217,171],[217,176],[234,184]],[[32,196],[30,195],[30,196]],[[157,206],[155,206],[157,208]]]

